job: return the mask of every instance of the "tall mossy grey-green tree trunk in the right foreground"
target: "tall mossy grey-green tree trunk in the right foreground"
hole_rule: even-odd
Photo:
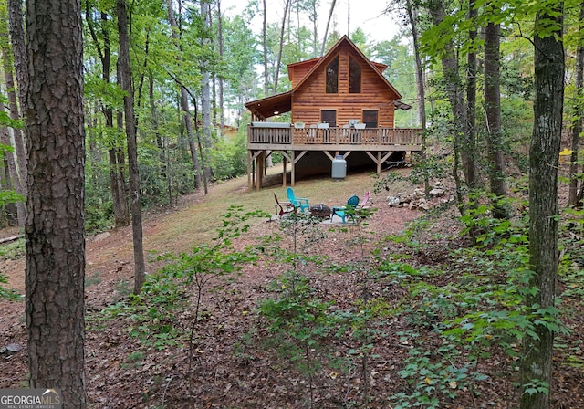
[[[535,31],[557,29],[547,37],[534,36],[534,127],[529,149],[529,264],[534,271],[527,309],[555,307],[558,276],[558,152],[564,99],[564,47],[562,5],[550,7],[549,15],[537,14]],[[554,13],[552,15],[551,13]],[[552,26],[553,25],[553,26]],[[529,292],[529,294],[532,294]],[[549,317],[549,316],[547,316]],[[534,320],[542,320],[536,317]],[[527,393],[530,384],[552,382],[554,332],[534,322],[536,336],[526,336],[521,362],[521,409],[547,409],[551,391]]]

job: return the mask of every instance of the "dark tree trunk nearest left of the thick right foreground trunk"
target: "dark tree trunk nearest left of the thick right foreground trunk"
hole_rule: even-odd
[[[491,192],[497,197],[505,197],[505,162],[501,132],[500,32],[500,25],[489,23],[485,27],[485,142],[490,159],[488,176]],[[505,206],[496,202],[498,201],[495,199],[493,204],[495,217],[505,218],[507,216]]]

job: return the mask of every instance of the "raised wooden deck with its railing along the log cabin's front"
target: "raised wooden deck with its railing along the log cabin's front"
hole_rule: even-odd
[[[278,124],[280,125],[280,124]],[[414,128],[247,127],[247,149],[290,151],[422,151]]]

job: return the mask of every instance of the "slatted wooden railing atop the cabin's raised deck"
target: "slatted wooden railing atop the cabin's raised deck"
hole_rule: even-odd
[[[408,145],[422,146],[422,130],[415,128],[271,128],[248,126],[252,144],[289,145]]]

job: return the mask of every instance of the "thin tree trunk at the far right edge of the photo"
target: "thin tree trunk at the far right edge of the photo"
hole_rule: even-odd
[[[568,205],[577,205],[581,198],[578,195],[578,150],[580,133],[582,132],[582,106],[584,106],[584,2],[580,4],[578,27],[578,50],[576,51],[576,101],[574,103],[574,119],[572,120],[572,141],[569,165]]]

